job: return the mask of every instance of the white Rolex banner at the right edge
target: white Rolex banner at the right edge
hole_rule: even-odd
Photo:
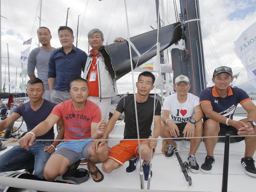
[[[237,57],[247,70],[248,81],[256,87],[256,22],[234,42]]]

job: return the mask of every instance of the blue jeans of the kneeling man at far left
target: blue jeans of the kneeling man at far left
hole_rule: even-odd
[[[17,171],[34,168],[37,177],[44,179],[45,164],[50,153],[44,151],[45,146],[52,141],[35,141],[29,150],[22,149],[19,145],[0,155],[0,172]]]

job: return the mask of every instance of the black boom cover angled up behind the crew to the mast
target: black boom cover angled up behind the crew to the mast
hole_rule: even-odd
[[[158,42],[160,42],[160,51],[178,42],[181,39],[181,34],[180,22],[159,28]],[[142,65],[156,55],[156,46],[154,45],[157,43],[157,35],[158,31],[152,30],[130,38],[135,49],[139,52],[132,47],[133,68]],[[113,81],[116,81],[131,71],[128,41],[115,42],[102,46],[99,51],[104,58],[106,68]]]

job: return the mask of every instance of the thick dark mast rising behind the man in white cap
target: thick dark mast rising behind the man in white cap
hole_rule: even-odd
[[[190,92],[199,96],[206,87],[204,53],[201,36],[201,20],[198,0],[180,0],[180,9],[185,23],[185,49],[188,51],[188,77],[191,80]]]

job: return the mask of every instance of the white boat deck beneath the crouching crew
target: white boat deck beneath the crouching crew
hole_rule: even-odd
[[[124,123],[119,122],[113,129],[110,138],[122,139]],[[158,140],[158,146],[156,148],[156,154],[152,159],[152,179],[150,189],[152,190],[172,190],[172,191],[200,191],[200,192],[220,192],[222,186],[222,173],[223,173],[223,154],[224,143],[217,143],[215,147],[215,164],[213,166],[211,174],[203,174],[199,172],[194,174],[189,172],[189,176],[192,179],[192,186],[188,187],[183,173],[181,172],[179,162],[176,155],[173,155],[171,159],[165,159],[165,156],[161,153],[161,139]],[[117,144],[119,141],[109,141],[109,146]],[[183,161],[187,161],[187,155],[189,152],[190,142],[182,140],[178,141],[178,151]],[[8,146],[6,150],[0,151],[0,154],[9,150],[11,146]],[[246,175],[243,167],[241,166],[241,158],[243,157],[245,150],[245,143],[241,141],[239,143],[230,144],[230,156],[229,156],[229,169],[228,169],[228,191],[230,192],[242,192],[242,191],[255,191],[256,178]],[[255,154],[256,155],[256,154]],[[256,156],[254,155],[254,159]],[[199,166],[204,162],[206,157],[206,150],[204,142],[201,142],[196,158]],[[124,189],[140,189],[139,179],[139,164],[137,170],[132,175],[126,174],[126,167],[128,162],[124,164],[118,170],[115,170],[111,174],[104,174],[104,180],[96,183],[90,177],[88,181],[80,185],[100,187],[104,191],[104,188],[124,188]],[[101,164],[97,164],[97,167],[102,171]],[[87,166],[79,166],[79,168],[87,168]],[[61,180],[61,177],[57,179]],[[66,180],[67,181],[67,180]],[[70,181],[72,182],[72,181]],[[145,188],[147,186],[145,185]]]

